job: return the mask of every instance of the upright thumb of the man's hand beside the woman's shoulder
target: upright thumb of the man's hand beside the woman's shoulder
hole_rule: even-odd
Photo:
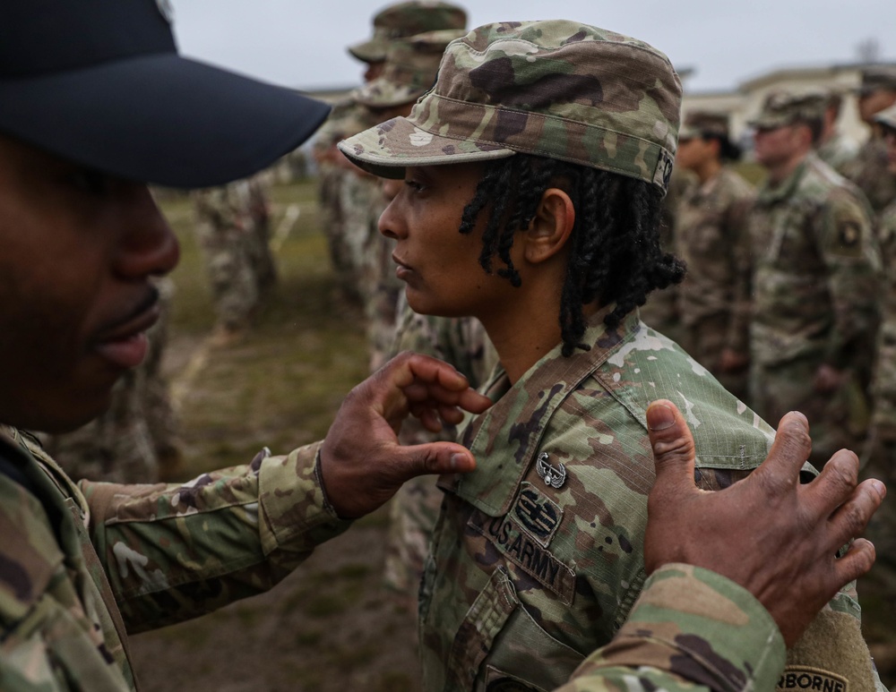
[[[653,464],[657,471],[657,491],[679,493],[694,490],[694,436],[675,404],[659,399],[647,407],[647,428]]]

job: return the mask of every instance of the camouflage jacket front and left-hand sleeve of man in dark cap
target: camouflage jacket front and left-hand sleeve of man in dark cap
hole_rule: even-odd
[[[17,431],[3,440],[39,496],[0,474],[9,692],[134,690],[125,632],[260,593],[349,525],[325,507],[318,444],[183,485],[75,485]]]

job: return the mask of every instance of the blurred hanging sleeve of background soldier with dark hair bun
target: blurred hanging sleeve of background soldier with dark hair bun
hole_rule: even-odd
[[[731,296],[731,319],[725,345],[737,354],[750,351],[750,311],[751,276],[753,258],[750,245],[750,230],[747,225],[753,198],[735,201],[726,214],[726,222],[731,238],[731,266],[734,272],[734,290]]]

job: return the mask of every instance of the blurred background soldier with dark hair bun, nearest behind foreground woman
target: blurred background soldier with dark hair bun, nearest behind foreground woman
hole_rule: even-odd
[[[676,166],[698,184],[676,210],[676,249],[687,265],[678,289],[679,341],[728,391],[745,399],[749,362],[750,237],[753,188],[725,164],[740,150],[728,116],[696,111],[678,134]]]

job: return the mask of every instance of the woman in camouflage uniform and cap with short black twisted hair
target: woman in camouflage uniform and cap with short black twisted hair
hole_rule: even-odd
[[[768,452],[771,428],[638,319],[651,290],[684,276],[657,235],[680,97],[668,58],[641,41],[496,23],[448,46],[407,118],[340,142],[404,180],[380,231],[410,306],[477,317],[500,357],[482,389],[495,404],[461,433],[477,470],[439,482],[426,690],[553,688],[624,621],[645,577],[650,400],[686,411],[703,488]],[[853,614],[825,624],[825,642],[864,646]],[[795,664],[874,688],[862,651],[849,670]]]

